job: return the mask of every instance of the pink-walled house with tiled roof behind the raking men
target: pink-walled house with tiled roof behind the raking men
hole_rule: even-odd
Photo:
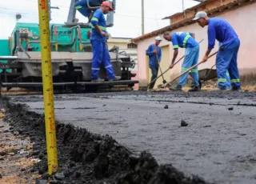
[[[256,0],[205,0],[199,3],[197,6],[193,6],[184,12],[173,14],[163,19],[170,20],[170,26],[163,27],[160,30],[154,30],[153,32],[143,34],[138,38],[134,38],[131,42],[137,44],[138,48],[138,78],[140,85],[144,86],[150,82],[151,72],[149,69],[149,58],[146,56],[146,50],[150,44],[154,43],[154,38],[160,36],[162,42],[160,46],[162,48],[162,71],[165,71],[170,66],[170,61],[173,57],[173,47],[171,42],[167,42],[163,39],[162,35],[166,31],[172,32],[193,32],[198,42],[200,43],[200,56],[201,59],[207,49],[207,26],[202,28],[197,22],[193,21],[194,15],[198,11],[206,11],[210,18],[219,17],[226,19],[230,22],[231,26],[237,32],[240,38],[241,45],[238,52],[238,68],[241,76],[255,73],[256,70]],[[212,53],[218,50],[218,41],[215,42],[214,50]],[[185,54],[185,49],[179,48],[178,58],[182,58]],[[198,66],[198,70],[205,68],[211,68],[215,64],[216,56],[210,58],[207,62]],[[183,60],[182,60],[183,61]],[[164,74],[167,82],[171,78],[178,76],[181,72],[182,61],[179,62],[173,69]],[[200,60],[199,60],[200,62]],[[158,73],[160,74],[160,72]],[[162,78],[159,78],[155,86],[162,83]]]

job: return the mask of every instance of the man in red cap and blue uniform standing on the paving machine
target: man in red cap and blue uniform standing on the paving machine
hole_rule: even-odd
[[[102,2],[101,8],[94,12],[93,18],[91,18],[90,26],[92,28],[90,34],[90,42],[93,46],[93,60],[91,69],[92,82],[104,82],[104,79],[98,78],[98,72],[100,65],[102,64],[106,69],[109,81],[115,81],[121,79],[119,76],[115,76],[113,67],[110,62],[110,53],[106,46],[106,19],[104,14],[108,14],[113,8],[110,2]]]

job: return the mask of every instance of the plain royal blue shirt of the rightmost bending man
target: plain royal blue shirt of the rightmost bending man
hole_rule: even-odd
[[[208,21],[208,49],[214,48],[215,39],[221,42],[222,45],[226,45],[232,42],[235,38],[238,38],[238,34],[222,18],[209,18]]]

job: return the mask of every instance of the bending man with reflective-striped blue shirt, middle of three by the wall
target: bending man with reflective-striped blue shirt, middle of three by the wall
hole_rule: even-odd
[[[166,32],[164,34],[164,38],[167,41],[172,42],[174,48],[174,56],[170,64],[170,68],[174,67],[175,59],[178,56],[178,47],[186,48],[184,62],[182,63],[182,72],[189,69],[191,66],[194,66],[198,63],[199,57],[199,44],[195,41],[194,33],[185,33],[185,32],[174,32],[173,34],[169,34]],[[186,85],[186,81],[189,73],[183,74],[178,79],[178,85],[174,88],[170,88],[170,90],[182,90],[182,86]],[[198,67],[196,66],[191,70],[191,75],[193,78],[194,86],[189,91],[198,91],[200,90],[199,82],[198,82]]]

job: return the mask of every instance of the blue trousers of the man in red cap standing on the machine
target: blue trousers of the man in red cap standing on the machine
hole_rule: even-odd
[[[100,70],[101,64],[106,69],[106,74],[109,79],[114,79],[115,74],[110,62],[110,53],[107,49],[106,42],[100,42],[98,40],[92,40],[91,44],[93,46],[93,60],[91,65],[91,79],[98,79],[98,72]]]

